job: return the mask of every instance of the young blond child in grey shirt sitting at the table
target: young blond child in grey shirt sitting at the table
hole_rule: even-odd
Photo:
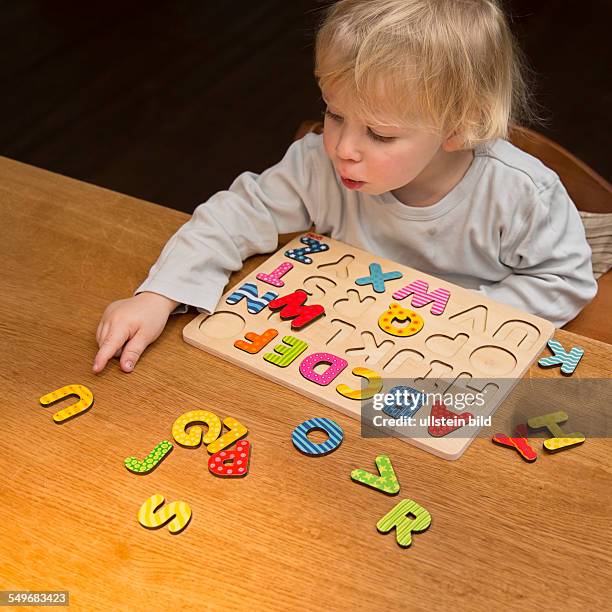
[[[561,326],[595,296],[558,176],[504,140],[526,102],[494,0],[342,0],[317,34],[323,136],[194,211],[134,297],[110,304],[93,370],[129,372],[172,311],[214,312],[230,273],[278,235],[316,232]]]

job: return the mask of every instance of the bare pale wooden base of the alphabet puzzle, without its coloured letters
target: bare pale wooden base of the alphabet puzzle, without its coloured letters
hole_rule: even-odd
[[[308,239],[327,245],[327,250],[306,255],[310,263],[286,256],[290,250],[304,249],[306,242],[303,241]],[[277,278],[277,282],[283,282],[282,287],[257,279],[258,274],[270,275],[281,264],[288,263],[293,267]],[[370,276],[370,264],[379,264],[383,273],[398,271],[402,276],[384,281],[382,292],[375,291],[373,284],[356,284],[356,279]],[[404,299],[393,297],[392,294],[414,281],[427,283],[429,293],[436,289],[450,292],[441,314],[432,314],[437,303],[434,301],[415,306],[414,293]],[[281,319],[279,311],[273,312],[267,302],[257,314],[248,311],[246,299],[228,303],[228,298],[246,283],[256,286],[259,298],[267,292],[281,298],[301,289],[308,294],[305,306],[320,304],[325,314],[301,329],[292,329],[292,319]],[[379,319],[392,303],[417,313],[423,322],[420,331],[407,337],[383,331]],[[397,327],[402,326],[397,320],[392,321]],[[248,332],[263,334],[269,329],[277,330],[278,335],[257,353],[250,354],[234,346],[235,341],[244,341]],[[354,390],[365,388],[362,384],[365,378],[352,373],[357,367],[374,370],[382,376],[381,393],[398,384],[431,393],[447,393],[449,389],[482,392],[484,404],[470,406],[466,411],[484,418],[493,414],[522,378],[554,330],[552,323],[529,313],[337,240],[308,233],[284,246],[229,289],[217,311],[196,317],[184,328],[183,338],[189,344],[354,418],[359,419],[364,402],[372,400],[349,399],[336,387],[344,384]],[[291,364],[280,367],[263,356],[274,353],[285,336],[305,341],[308,347]],[[320,352],[348,362],[326,386],[300,373],[300,363]],[[325,367],[329,366],[321,364],[314,371],[323,373]],[[430,410],[431,405],[425,405],[415,417],[426,417]],[[411,435],[406,437],[405,427],[385,428],[387,434],[398,435],[445,459],[460,457],[479,430],[480,426],[466,425],[452,434],[433,437],[427,426],[417,426],[411,427]]]

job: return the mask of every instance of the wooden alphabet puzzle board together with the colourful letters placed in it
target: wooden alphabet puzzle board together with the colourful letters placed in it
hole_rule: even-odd
[[[191,321],[183,338],[354,418],[391,388],[480,394],[467,412],[414,403],[409,414],[419,418],[411,427],[392,419],[380,427],[457,459],[554,329],[475,291],[307,233],[229,289],[215,313]],[[382,415],[398,413],[406,411],[388,406]]]

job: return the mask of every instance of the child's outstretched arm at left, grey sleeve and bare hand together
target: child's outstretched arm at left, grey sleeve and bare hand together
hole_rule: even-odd
[[[229,275],[247,257],[273,251],[278,235],[305,231],[319,198],[320,137],[308,135],[261,175],[244,172],[196,208],[168,241],[134,297],[108,306],[96,334],[94,372],[113,356],[129,372],[177,306],[214,312]],[[131,365],[129,365],[131,364]]]

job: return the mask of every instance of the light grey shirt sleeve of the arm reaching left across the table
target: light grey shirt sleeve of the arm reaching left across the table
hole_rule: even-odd
[[[200,204],[134,294],[151,291],[181,302],[174,313],[187,306],[214,312],[229,275],[246,258],[274,251],[279,234],[311,227],[318,200],[313,143],[312,136],[293,143],[275,166],[242,173]]]

